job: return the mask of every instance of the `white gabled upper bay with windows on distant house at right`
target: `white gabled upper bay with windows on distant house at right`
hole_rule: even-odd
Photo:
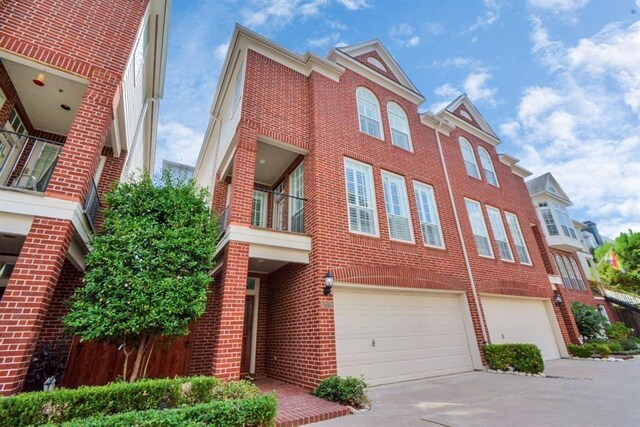
[[[546,173],[527,181],[527,189],[538,219],[544,224],[547,244],[568,252],[581,250],[583,244],[567,209],[571,200],[553,175]]]

